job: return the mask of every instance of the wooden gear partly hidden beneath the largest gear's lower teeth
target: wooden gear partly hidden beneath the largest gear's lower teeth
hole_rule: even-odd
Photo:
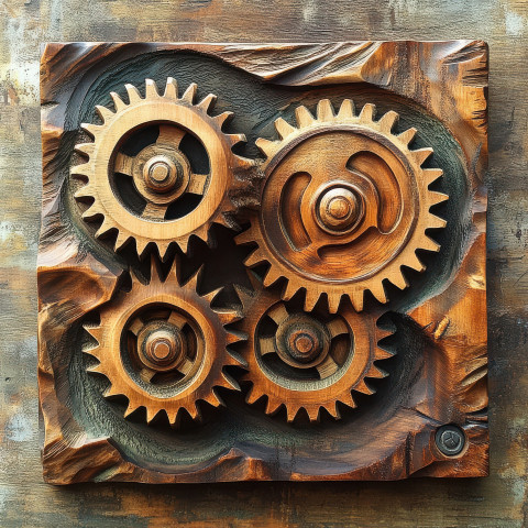
[[[288,421],[300,409],[317,421],[321,408],[340,418],[338,402],[355,407],[352,391],[375,392],[365,378],[385,377],[374,362],[393,355],[377,345],[392,333],[376,326],[378,316],[360,316],[352,307],[330,317],[306,312],[288,307],[254,277],[252,282],[253,293],[237,288],[246,314],[238,326],[248,334],[243,378],[253,384],[249,404],[266,396],[266,414],[284,405]]]

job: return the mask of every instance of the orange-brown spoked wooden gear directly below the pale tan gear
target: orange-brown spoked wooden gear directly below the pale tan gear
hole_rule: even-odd
[[[219,290],[199,296],[197,277],[182,284],[176,260],[162,280],[153,261],[148,284],[132,274],[132,289],[100,309],[100,324],[85,326],[98,343],[85,350],[99,360],[88,370],[110,381],[105,396],[129,399],[125,417],[145,407],[147,422],[163,410],[175,425],[182,409],[200,417],[198,400],[223,405],[216,387],[240,391],[223,372],[240,365],[227,346],[241,338],[224,328],[239,314],[213,310],[210,302]]]

